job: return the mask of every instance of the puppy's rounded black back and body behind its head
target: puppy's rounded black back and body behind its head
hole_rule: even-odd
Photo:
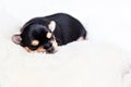
[[[86,30],[81,22],[69,14],[58,13],[46,16],[46,18],[55,21],[57,24],[53,33],[59,46],[74,41],[80,37],[84,39],[86,37]]]

